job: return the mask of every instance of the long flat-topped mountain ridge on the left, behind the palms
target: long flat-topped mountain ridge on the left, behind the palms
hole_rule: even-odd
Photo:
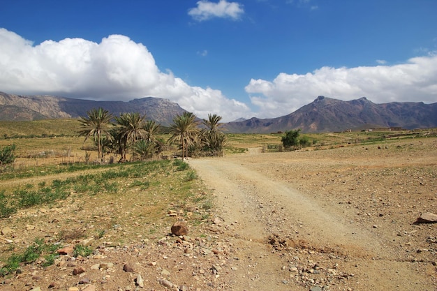
[[[20,96],[0,92],[0,120],[77,118],[92,108],[103,107],[115,116],[123,112],[146,114],[158,124],[168,126],[176,114],[186,110],[170,100],[154,97],[124,101],[94,101],[57,96]]]

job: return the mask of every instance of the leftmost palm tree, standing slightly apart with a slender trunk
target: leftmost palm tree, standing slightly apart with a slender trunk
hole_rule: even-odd
[[[102,154],[102,137],[103,135],[106,138],[111,139],[112,136],[109,134],[112,114],[108,110],[104,110],[99,107],[98,109],[93,108],[87,112],[86,117],[80,117],[80,126],[82,126],[82,130],[79,130],[79,135],[85,136],[85,141],[87,141],[88,137],[94,137],[94,141],[97,142],[98,145],[98,158],[103,158]]]

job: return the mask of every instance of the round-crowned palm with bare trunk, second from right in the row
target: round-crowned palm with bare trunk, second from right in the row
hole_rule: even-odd
[[[182,144],[182,160],[186,157],[188,146],[194,144],[198,137],[198,122],[195,119],[196,117],[193,113],[184,112],[182,115],[177,114],[170,125],[172,136],[168,141],[172,143],[179,140]]]

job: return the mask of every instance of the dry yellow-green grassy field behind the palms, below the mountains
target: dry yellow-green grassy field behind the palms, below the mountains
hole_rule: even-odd
[[[17,167],[44,164],[64,164],[84,162],[86,151],[91,154],[89,161],[97,158],[96,147],[91,140],[84,142],[84,137],[77,135],[80,123],[77,119],[48,119],[40,121],[0,121],[0,147],[8,144],[17,146]],[[380,140],[397,140],[413,138],[434,130],[417,130],[414,132],[344,132],[301,134],[308,138],[313,149],[338,147],[347,144],[369,144]],[[268,147],[281,144],[283,133],[272,134],[235,134],[228,133],[226,154],[238,154],[250,147]],[[168,140],[170,135],[161,135]],[[90,150],[94,149],[94,150]],[[175,148],[170,147],[164,155],[172,155]],[[117,158],[117,157],[116,157]],[[115,161],[118,161],[115,160]]]

